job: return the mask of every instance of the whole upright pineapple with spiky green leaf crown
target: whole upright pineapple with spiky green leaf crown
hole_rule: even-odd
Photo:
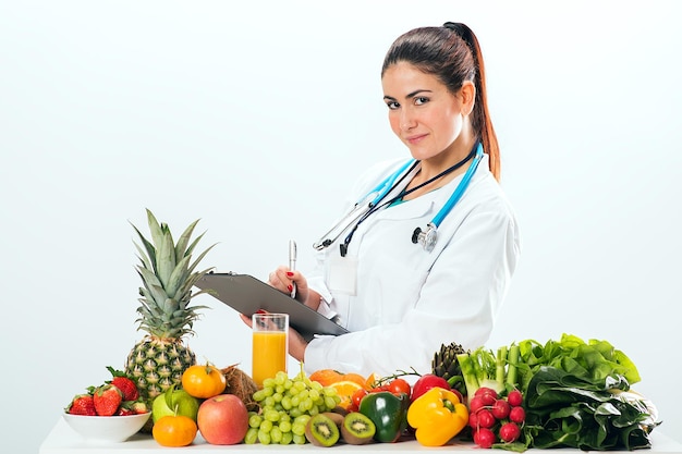
[[[196,364],[196,356],[183,344],[183,336],[194,334],[197,310],[206,307],[190,306],[190,299],[203,293],[193,294],[192,286],[210,271],[194,271],[194,268],[215,245],[191,262],[192,251],[204,236],[190,244],[198,220],[186,228],[176,244],[168,225],[159,224],[149,210],[147,220],[153,243],[133,225],[144,245],[143,248],[135,243],[141,260],[136,269],[144,284],[139,287],[142,306],[137,308],[139,318],[135,322],[147,334],[130,352],[125,372],[135,380],[141,394],[153,400],[180,384],[184,370]]]

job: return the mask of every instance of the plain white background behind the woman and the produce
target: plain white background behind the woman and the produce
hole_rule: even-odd
[[[265,279],[289,238],[305,269],[361,170],[406,152],[386,50],[446,21],[480,40],[523,233],[489,345],[608,340],[682,441],[680,8],[545,3],[0,0],[3,450],[37,452],[142,338],[145,208],[200,218],[219,271]],[[251,370],[236,314],[196,302],[198,358]]]

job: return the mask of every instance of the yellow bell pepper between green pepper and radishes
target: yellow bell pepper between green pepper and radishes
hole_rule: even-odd
[[[468,422],[468,409],[456,394],[431,388],[407,408],[407,424],[424,446],[442,446],[460,433]]]

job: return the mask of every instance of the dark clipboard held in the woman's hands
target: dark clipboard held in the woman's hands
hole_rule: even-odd
[[[315,334],[341,335],[349,332],[321,314],[249,274],[209,272],[199,278],[194,285],[248,317],[258,309],[289,314],[289,326],[306,341],[310,341]]]

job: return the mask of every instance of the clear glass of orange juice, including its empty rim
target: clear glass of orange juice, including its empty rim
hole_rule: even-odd
[[[263,388],[263,381],[277,372],[287,372],[289,355],[289,314],[254,314],[251,317],[252,378]]]

